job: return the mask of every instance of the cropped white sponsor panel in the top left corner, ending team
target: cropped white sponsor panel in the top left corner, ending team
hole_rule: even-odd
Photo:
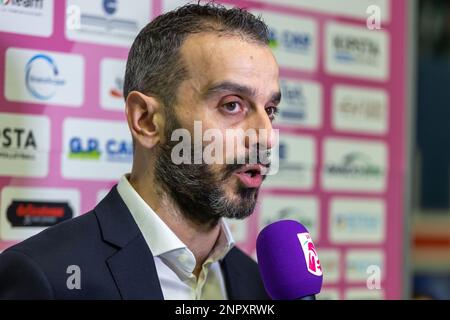
[[[53,0],[0,1],[0,32],[50,37],[53,8]]]

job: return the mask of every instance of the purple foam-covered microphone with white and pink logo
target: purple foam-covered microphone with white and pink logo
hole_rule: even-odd
[[[315,300],[322,267],[306,228],[294,220],[266,226],[256,240],[259,270],[274,300]]]

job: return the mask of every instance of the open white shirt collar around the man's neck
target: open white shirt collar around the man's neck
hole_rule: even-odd
[[[196,264],[193,253],[134,190],[128,176],[121,177],[117,191],[130,210],[153,256],[163,259],[175,272],[191,274]],[[224,258],[234,244],[228,225],[221,219],[219,237],[205,263]]]

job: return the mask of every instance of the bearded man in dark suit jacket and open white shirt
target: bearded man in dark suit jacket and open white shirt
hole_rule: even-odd
[[[0,255],[0,298],[266,299],[223,219],[252,213],[264,166],[175,163],[172,134],[253,129],[265,135],[241,141],[246,157],[272,147],[280,92],[267,34],[248,12],[215,4],[149,23],[125,74],[131,173],[93,211]]]

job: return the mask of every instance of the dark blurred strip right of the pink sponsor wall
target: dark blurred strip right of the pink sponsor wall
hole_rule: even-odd
[[[450,3],[420,0],[417,9],[417,113],[413,153],[413,278],[416,294],[450,298],[449,157]]]

